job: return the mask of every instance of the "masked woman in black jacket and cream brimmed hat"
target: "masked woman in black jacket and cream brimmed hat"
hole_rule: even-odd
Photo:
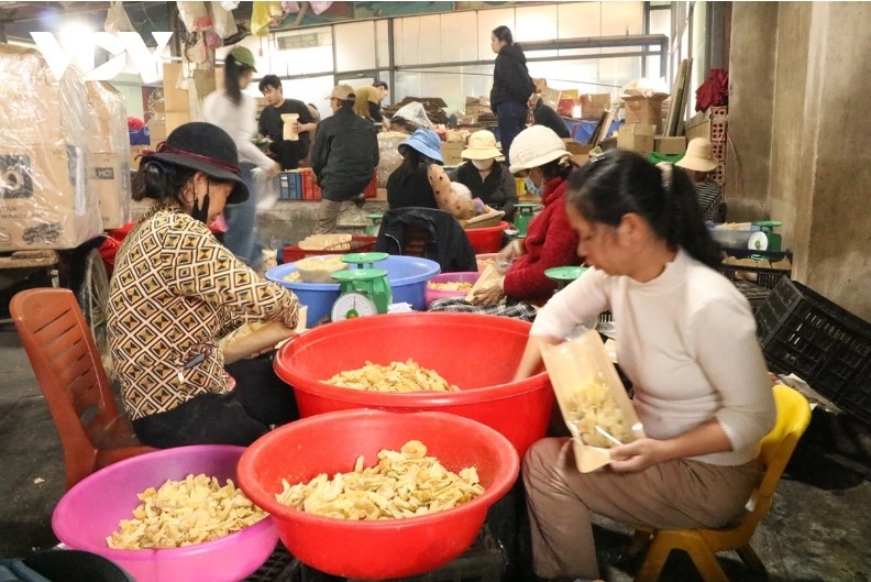
[[[468,136],[468,146],[461,157],[466,162],[448,172],[451,182],[457,182],[496,210],[505,211],[505,220],[514,221],[514,205],[517,204],[517,184],[496,147],[496,136],[487,130],[476,131]]]

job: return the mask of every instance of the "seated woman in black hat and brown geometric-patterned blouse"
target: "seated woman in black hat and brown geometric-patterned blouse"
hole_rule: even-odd
[[[293,391],[271,358],[224,371],[218,340],[245,322],[296,328],[299,303],[221,245],[209,226],[249,197],[233,140],[186,123],[145,152],[133,199],[154,200],[115,256],[107,329],[121,399],[152,447],[251,444],[298,418]]]

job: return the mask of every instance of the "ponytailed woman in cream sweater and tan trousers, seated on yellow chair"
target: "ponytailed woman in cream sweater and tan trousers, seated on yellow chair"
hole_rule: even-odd
[[[682,169],[606,154],[569,178],[566,213],[592,268],[539,311],[517,378],[541,365],[542,342],[610,309],[647,438],[584,474],[567,439],[529,449],[533,568],[549,580],[598,576],[592,513],[654,528],[727,524],[759,479],[759,440],[775,416],[750,306],[715,270]]]

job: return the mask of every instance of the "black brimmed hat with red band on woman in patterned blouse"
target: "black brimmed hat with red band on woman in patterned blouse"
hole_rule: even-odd
[[[165,142],[157,144],[154,152],[143,154],[142,162],[148,160],[199,169],[212,178],[235,182],[227,197],[227,204],[235,205],[247,200],[249,190],[242,182],[235,143],[218,125],[201,121],[179,125]]]

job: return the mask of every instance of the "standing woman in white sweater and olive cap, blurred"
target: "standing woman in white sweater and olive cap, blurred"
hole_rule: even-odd
[[[257,69],[254,55],[244,46],[236,46],[224,59],[224,87],[206,97],[202,103],[202,120],[218,125],[233,139],[239,151],[242,180],[252,196],[240,205],[224,208],[227,232],[224,245],[251,268],[260,270],[263,256],[257,242],[257,197],[251,171],[260,167],[266,177],[274,178],[282,166],[252,143],[257,133],[257,102],[242,91],[249,86]]]

